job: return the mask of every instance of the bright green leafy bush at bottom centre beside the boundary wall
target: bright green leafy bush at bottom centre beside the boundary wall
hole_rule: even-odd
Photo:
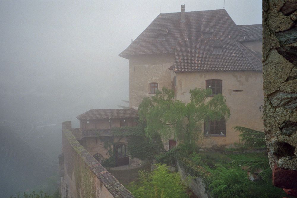
[[[170,172],[165,164],[157,164],[157,168],[150,174],[139,171],[138,179],[138,183],[132,183],[128,187],[136,198],[189,197],[180,175],[177,172]]]

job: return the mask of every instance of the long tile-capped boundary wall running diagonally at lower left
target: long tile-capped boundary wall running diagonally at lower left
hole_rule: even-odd
[[[67,123],[66,123],[67,124]],[[71,124],[70,124],[71,127]],[[59,157],[62,197],[133,197],[76,140],[69,126],[62,123],[62,152]]]

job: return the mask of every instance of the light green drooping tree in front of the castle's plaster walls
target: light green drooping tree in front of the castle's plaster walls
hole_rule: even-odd
[[[162,88],[155,96],[144,98],[138,107],[140,122],[146,123],[145,133],[153,137],[175,137],[184,144],[195,145],[202,137],[201,126],[206,120],[229,118],[230,111],[221,94],[211,96],[211,89],[190,90],[190,102],[174,99],[174,91]]]

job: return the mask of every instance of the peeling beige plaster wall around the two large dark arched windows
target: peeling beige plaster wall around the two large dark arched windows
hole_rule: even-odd
[[[239,142],[234,126],[263,131],[263,80],[261,72],[184,72],[176,73],[176,99],[190,101],[189,90],[206,88],[206,80],[222,80],[222,95],[230,109],[226,121],[226,136],[204,137],[203,146],[230,145]],[[233,91],[242,90],[242,91]],[[204,129],[203,129],[204,131]]]

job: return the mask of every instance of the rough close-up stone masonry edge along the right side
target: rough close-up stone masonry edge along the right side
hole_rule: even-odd
[[[297,196],[296,0],[263,0],[263,80],[273,184]]]

